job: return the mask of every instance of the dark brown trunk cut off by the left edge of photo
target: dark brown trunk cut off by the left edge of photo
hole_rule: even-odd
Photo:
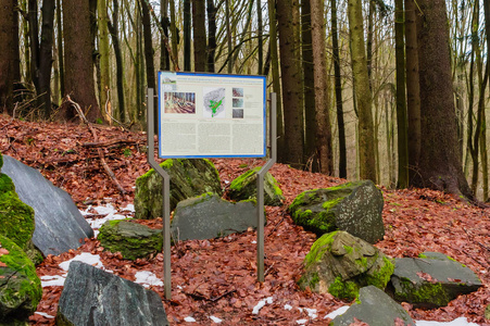
[[[0,0],[0,112],[13,113],[14,84],[21,79],[17,0]]]

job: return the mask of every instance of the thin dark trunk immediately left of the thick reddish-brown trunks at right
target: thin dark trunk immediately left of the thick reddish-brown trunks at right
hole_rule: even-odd
[[[403,0],[394,1],[394,42],[397,61],[398,188],[409,187],[409,143],[405,97]]]

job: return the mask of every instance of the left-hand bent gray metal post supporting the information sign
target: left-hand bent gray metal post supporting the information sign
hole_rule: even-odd
[[[163,178],[163,281],[165,299],[172,299],[172,280],[171,280],[171,176],[154,160],[154,95],[153,88],[149,88],[148,109],[147,109],[147,136],[148,136],[148,163]]]

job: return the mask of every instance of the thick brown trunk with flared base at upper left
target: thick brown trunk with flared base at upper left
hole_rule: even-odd
[[[90,122],[101,117],[96,98],[92,65],[89,0],[63,0],[65,91],[71,95]],[[75,111],[67,113],[68,118]]]

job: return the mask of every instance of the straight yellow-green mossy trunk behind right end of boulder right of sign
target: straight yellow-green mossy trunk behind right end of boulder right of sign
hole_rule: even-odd
[[[372,93],[367,74],[366,52],[364,48],[364,28],[361,0],[348,2],[349,30],[351,35],[351,57],[359,112],[360,177],[376,179],[374,125]]]

